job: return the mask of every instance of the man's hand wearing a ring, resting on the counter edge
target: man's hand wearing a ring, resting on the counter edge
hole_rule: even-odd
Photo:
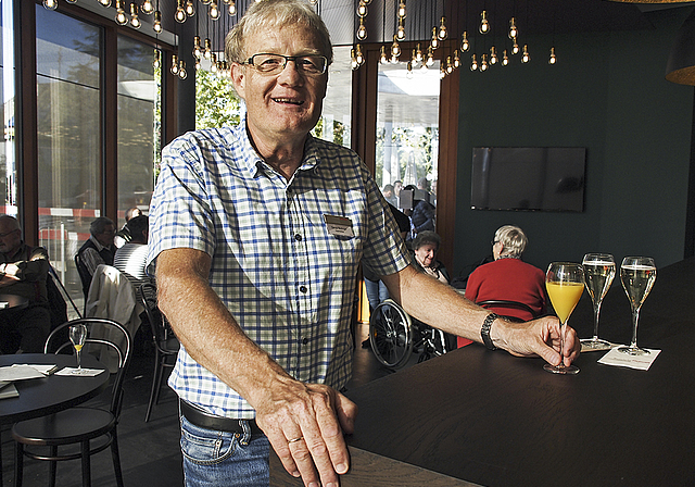
[[[289,380],[254,407],[256,423],[291,475],[306,486],[339,485],[338,474],[350,466],[343,433],[353,433],[354,402],[330,387]]]

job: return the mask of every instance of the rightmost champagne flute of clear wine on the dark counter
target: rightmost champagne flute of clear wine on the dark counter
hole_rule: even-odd
[[[650,257],[627,257],[620,265],[620,280],[632,308],[632,341],[630,346],[618,347],[618,351],[630,355],[646,355],[648,350],[637,347],[637,322],[640,309],[656,280],[656,265]]]

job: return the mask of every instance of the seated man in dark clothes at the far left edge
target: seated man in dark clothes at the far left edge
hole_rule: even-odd
[[[0,294],[29,300],[24,309],[0,311],[1,353],[40,353],[50,332],[51,315],[46,280],[48,252],[22,241],[20,222],[0,215]]]

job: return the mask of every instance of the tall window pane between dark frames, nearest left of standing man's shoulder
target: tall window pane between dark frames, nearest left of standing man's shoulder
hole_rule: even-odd
[[[150,208],[160,158],[160,84],[155,50],[118,36],[118,226],[124,212]]]

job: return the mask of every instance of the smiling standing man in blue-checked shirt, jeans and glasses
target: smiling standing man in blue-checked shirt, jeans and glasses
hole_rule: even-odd
[[[159,304],[182,345],[169,385],[189,487],[267,486],[270,447],[305,485],[338,485],[361,262],[426,323],[478,341],[484,323],[496,347],[563,360],[557,320],[517,328],[415,271],[358,157],[308,135],[332,48],[306,2],[253,3],[226,59],[245,114],[164,149],[150,211]],[[573,333],[566,344],[570,363]]]

